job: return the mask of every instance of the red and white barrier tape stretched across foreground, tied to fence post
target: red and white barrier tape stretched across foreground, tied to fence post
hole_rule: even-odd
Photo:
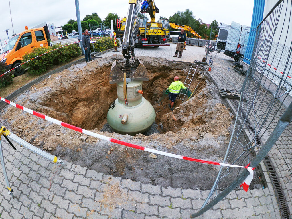
[[[147,151],[147,152],[151,152],[151,153],[155,153],[155,154],[161,154],[161,155],[164,155],[164,156],[167,156],[167,157],[174,157],[174,158],[178,158],[178,159],[195,161],[195,162],[205,163],[205,164],[219,165],[219,166],[247,168],[250,174],[244,180],[244,183],[241,184],[241,185],[244,185],[243,188],[244,188],[245,191],[248,190],[248,185],[251,183],[251,180],[253,179],[253,169],[254,168],[248,167],[249,164],[247,166],[238,166],[238,165],[233,165],[233,164],[223,164],[223,163],[219,163],[219,162],[206,161],[206,160],[196,159],[196,158],[192,158],[192,157],[185,157],[185,156],[181,156],[181,155],[177,155],[177,154],[172,154],[172,153],[168,153],[168,152],[154,150],[154,149],[147,148],[147,147],[142,147],[142,146],[139,146],[139,145],[134,145],[134,144],[131,144],[131,143],[128,143],[128,142],[124,142],[124,141],[121,141],[121,140],[117,140],[117,139],[114,139],[114,138],[109,138],[107,136],[100,135],[100,134],[88,131],[86,129],[83,129],[83,128],[72,126],[72,125],[67,124],[65,122],[59,121],[57,119],[53,119],[53,118],[48,117],[48,116],[46,116],[44,114],[41,114],[39,112],[35,112],[35,111],[33,111],[31,109],[28,109],[28,108],[26,108],[24,106],[21,106],[21,105],[18,105],[16,103],[14,103],[14,102],[6,100],[5,98],[2,98],[2,97],[0,97],[0,98],[1,98],[2,101],[6,102],[6,103],[8,103],[8,104],[10,104],[10,105],[12,105],[14,107],[17,107],[18,109],[21,109],[21,110],[23,110],[25,112],[28,112],[28,113],[30,113],[32,115],[35,115],[35,116],[37,116],[39,118],[45,119],[45,120],[50,121],[52,123],[55,123],[55,124],[57,124],[59,126],[63,126],[63,127],[72,129],[74,131],[78,131],[78,132],[84,133],[86,135],[90,135],[92,137],[99,138],[99,139],[102,139],[102,140],[106,140],[106,141],[109,141],[109,142],[114,142],[114,143],[117,143],[117,144],[120,144],[120,145],[124,145],[124,146],[127,146],[127,147],[133,147],[133,148],[136,148],[136,149],[139,149],[139,150],[142,150],[142,151]]]

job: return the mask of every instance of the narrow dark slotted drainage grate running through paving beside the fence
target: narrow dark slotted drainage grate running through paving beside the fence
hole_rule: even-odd
[[[232,103],[236,108],[238,108],[239,105],[238,105],[238,102],[236,100],[232,100]],[[244,115],[244,112],[242,112],[242,115],[244,118],[246,117],[246,115]],[[258,135],[256,135],[256,132],[255,132],[253,126],[250,124],[249,120],[246,120],[246,126],[248,127],[250,133],[256,138],[256,142],[257,142],[258,147],[262,148],[263,145],[260,142]],[[277,201],[279,204],[281,218],[282,219],[291,219],[290,211],[289,211],[289,208],[286,204],[285,196],[283,194],[284,192],[283,192],[283,189],[282,189],[281,184],[279,182],[279,178],[277,176],[277,173],[272,165],[271,159],[270,159],[270,157],[265,156],[263,161],[264,161],[265,166],[268,168],[268,171],[269,171],[269,175],[270,175],[270,178],[272,181],[272,185],[274,187],[275,195],[277,197]]]

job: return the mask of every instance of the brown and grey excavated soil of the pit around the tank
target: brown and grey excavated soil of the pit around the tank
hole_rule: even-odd
[[[159,133],[130,136],[99,131],[107,123],[109,106],[117,98],[116,85],[109,84],[109,72],[115,59],[124,62],[121,55],[113,55],[71,66],[32,86],[14,102],[111,138],[173,154],[223,161],[234,119],[208,77],[202,80],[193,98],[183,103],[176,100],[173,112],[168,108],[168,98],[158,103],[173,77],[179,76],[182,82],[185,81],[189,63],[139,57],[149,73],[149,81],[142,85],[143,96],[155,109]],[[204,69],[199,67],[190,86],[192,90],[203,72]],[[36,147],[116,177],[206,190],[212,187],[219,171],[219,166],[162,155],[154,159],[148,152],[83,135],[12,106],[2,110],[1,120],[13,133]],[[256,169],[252,188],[261,187],[259,176]],[[227,187],[235,177],[236,173],[225,177],[220,181],[219,189]]]

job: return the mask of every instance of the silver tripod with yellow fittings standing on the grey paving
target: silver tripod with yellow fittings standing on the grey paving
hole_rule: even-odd
[[[2,149],[2,142],[1,142],[2,135],[4,136],[4,138],[7,140],[7,142],[11,145],[11,147],[14,150],[16,150],[16,148],[13,146],[13,144],[11,143],[11,141],[8,138],[10,138],[10,139],[14,140],[15,142],[17,142],[18,144],[20,144],[20,147],[25,147],[26,149],[28,149],[36,154],[39,154],[40,156],[42,156],[50,161],[53,161],[54,163],[60,163],[60,164],[66,165],[64,163],[64,161],[62,161],[61,159],[58,159],[58,157],[56,157],[52,154],[49,154],[45,151],[42,151],[41,149],[39,149],[37,147],[34,147],[33,145],[29,144],[28,142],[26,142],[22,138],[19,138],[17,135],[15,135],[12,132],[10,132],[9,130],[7,130],[4,126],[1,126],[1,129],[0,129],[0,159],[1,159],[1,164],[2,164],[3,174],[5,177],[5,181],[6,181],[6,187],[9,190],[8,194],[10,194],[12,198],[13,198],[13,194],[12,194],[13,190],[10,187],[10,183],[9,183],[6,168],[5,168],[4,157],[3,157],[3,149]]]

